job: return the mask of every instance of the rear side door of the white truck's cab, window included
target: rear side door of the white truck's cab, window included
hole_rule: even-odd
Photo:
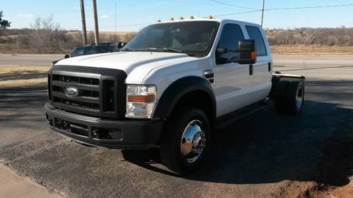
[[[271,89],[272,79],[272,58],[268,45],[268,40],[265,37],[265,32],[262,28],[253,25],[245,25],[249,39],[255,40],[257,61],[253,64],[252,87],[253,94],[251,101],[257,102],[268,97]]]

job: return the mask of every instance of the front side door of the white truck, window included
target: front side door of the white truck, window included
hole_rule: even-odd
[[[223,25],[217,49],[239,49],[244,39],[241,27],[234,23]],[[217,116],[222,116],[251,104],[251,75],[249,65],[234,63],[237,52],[215,52],[215,85]]]

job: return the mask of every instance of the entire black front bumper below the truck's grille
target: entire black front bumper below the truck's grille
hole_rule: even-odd
[[[44,106],[53,130],[77,142],[111,149],[156,147],[163,129],[162,120],[109,120],[82,116]]]

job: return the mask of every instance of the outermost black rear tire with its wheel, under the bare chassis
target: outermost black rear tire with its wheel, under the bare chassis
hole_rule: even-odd
[[[298,81],[289,83],[286,92],[287,113],[295,115],[301,111],[304,104],[304,85]]]

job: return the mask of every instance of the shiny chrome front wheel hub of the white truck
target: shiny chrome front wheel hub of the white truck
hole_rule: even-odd
[[[188,163],[195,162],[205,148],[205,131],[200,120],[192,120],[184,129],[181,137],[181,156]]]

